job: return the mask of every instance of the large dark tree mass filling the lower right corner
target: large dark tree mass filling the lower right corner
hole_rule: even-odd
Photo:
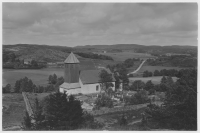
[[[149,107],[146,113],[160,128],[197,130],[197,70],[185,70],[175,85],[167,87],[163,106]]]

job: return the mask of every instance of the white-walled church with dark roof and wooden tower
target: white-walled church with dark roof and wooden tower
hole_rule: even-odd
[[[80,71],[80,62],[76,56],[71,53],[64,61],[64,83],[60,85],[59,91],[66,94],[92,94],[100,93],[101,83],[98,70],[82,70]],[[105,69],[111,74],[109,69]],[[112,74],[113,87],[115,91],[115,78]]]

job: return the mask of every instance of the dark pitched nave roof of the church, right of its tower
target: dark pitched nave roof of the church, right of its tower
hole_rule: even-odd
[[[83,84],[93,84],[93,83],[99,83],[100,78],[99,78],[99,73],[101,72],[102,69],[98,70],[83,70],[80,73],[80,79]],[[109,69],[105,69],[108,73],[111,74]],[[112,74],[112,81],[115,81],[115,78]]]

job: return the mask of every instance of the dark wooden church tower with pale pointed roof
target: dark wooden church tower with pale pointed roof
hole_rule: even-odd
[[[79,60],[71,52],[64,61],[64,82],[78,83],[79,82]]]

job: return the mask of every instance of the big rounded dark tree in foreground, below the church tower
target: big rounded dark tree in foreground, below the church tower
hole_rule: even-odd
[[[50,94],[45,99],[46,128],[49,130],[73,130],[83,123],[81,102],[72,95]]]

